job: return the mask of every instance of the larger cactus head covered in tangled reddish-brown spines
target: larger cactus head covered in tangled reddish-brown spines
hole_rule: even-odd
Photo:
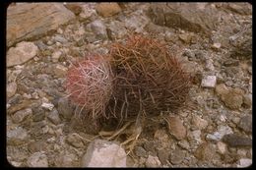
[[[132,35],[126,44],[113,44],[109,56],[115,79],[107,108],[120,121],[184,105],[190,76],[164,44]]]

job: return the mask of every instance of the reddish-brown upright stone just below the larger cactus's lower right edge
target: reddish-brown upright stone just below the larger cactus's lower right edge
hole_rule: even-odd
[[[183,126],[183,123],[178,116],[169,116],[168,126],[169,133],[173,135],[177,140],[182,140],[186,137],[187,130]]]

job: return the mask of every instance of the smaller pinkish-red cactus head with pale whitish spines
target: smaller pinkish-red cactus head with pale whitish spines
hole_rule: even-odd
[[[66,88],[70,100],[81,106],[81,111],[87,111],[88,115],[84,116],[94,119],[105,116],[105,104],[112,92],[112,74],[107,59],[93,55],[74,63],[67,73]]]

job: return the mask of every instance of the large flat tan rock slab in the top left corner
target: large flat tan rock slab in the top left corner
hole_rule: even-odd
[[[72,19],[75,19],[75,15],[61,3],[24,3],[9,6],[6,20],[7,46],[24,39],[39,38]]]

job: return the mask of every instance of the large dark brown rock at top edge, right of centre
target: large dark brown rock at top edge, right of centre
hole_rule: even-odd
[[[218,11],[206,3],[157,3],[147,13],[156,25],[206,34],[211,34],[218,21]]]

